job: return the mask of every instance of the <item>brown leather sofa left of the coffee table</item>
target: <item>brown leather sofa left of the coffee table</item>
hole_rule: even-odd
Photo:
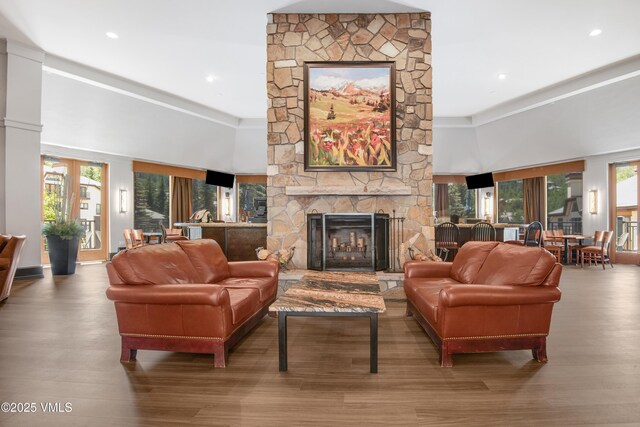
[[[146,245],[107,264],[122,337],[121,361],[138,349],[212,353],[225,367],[229,348],[267,314],[278,264],[227,262],[214,240]]]

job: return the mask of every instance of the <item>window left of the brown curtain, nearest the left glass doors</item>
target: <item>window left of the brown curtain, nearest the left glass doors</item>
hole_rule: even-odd
[[[160,231],[160,222],[169,227],[169,176],[134,172],[133,226],[144,231]]]

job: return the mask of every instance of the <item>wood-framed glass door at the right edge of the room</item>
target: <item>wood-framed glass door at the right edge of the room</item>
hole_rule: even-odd
[[[638,264],[638,166],[640,161],[613,165],[612,188],[615,208],[611,229],[615,230],[611,248],[614,259],[622,264]]]

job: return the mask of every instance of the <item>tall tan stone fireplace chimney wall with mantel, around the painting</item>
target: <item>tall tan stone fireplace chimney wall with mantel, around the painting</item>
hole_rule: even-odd
[[[430,30],[427,12],[269,15],[267,248],[294,246],[291,268],[314,267],[308,253],[308,218],[314,212],[395,211],[395,216],[405,218],[404,235],[396,246],[411,241],[421,251],[433,247]],[[395,62],[395,171],[305,170],[307,61]],[[356,233],[356,248],[357,238]],[[340,239],[350,242],[348,234]]]

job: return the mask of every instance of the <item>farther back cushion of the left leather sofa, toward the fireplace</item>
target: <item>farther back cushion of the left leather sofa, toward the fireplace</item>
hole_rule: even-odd
[[[218,283],[229,277],[227,257],[215,240],[179,240],[174,243],[187,254],[202,283]]]

